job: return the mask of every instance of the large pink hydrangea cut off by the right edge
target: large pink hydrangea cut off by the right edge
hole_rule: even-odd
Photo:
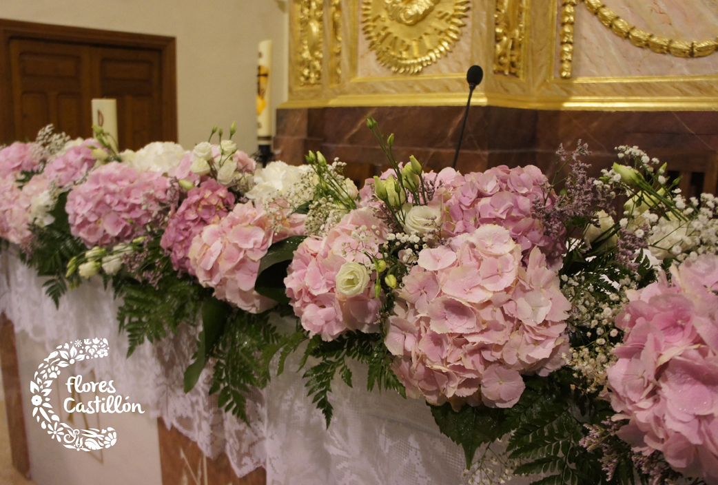
[[[718,256],[671,268],[628,294],[625,330],[608,369],[618,435],[633,450],[658,450],[685,476],[718,483]]]

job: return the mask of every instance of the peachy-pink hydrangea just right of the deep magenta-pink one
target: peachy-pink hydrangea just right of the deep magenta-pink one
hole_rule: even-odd
[[[259,263],[273,242],[271,219],[252,202],[237,204],[218,224],[192,240],[189,260],[203,286],[215,296],[251,313],[261,313],[276,301],[254,291]]]

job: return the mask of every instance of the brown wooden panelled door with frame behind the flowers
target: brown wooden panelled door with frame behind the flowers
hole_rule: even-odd
[[[89,137],[93,98],[117,99],[121,150],[177,141],[173,38],[0,20],[0,42],[0,142]]]

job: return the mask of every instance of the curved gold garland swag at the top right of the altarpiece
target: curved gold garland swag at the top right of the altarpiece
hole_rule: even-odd
[[[709,39],[703,42],[685,42],[668,39],[637,29],[624,19],[618,17],[615,11],[605,6],[600,0],[584,0],[589,11],[592,12],[606,27],[618,37],[630,40],[636,47],[645,47],[658,54],[671,54],[675,57],[705,57],[718,50],[718,39]]]

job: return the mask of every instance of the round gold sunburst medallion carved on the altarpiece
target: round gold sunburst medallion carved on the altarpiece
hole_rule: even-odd
[[[447,55],[461,37],[469,0],[363,0],[369,49],[393,72],[416,74]]]

